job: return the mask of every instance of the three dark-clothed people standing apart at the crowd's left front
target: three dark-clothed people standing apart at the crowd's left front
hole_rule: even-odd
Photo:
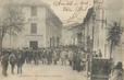
[[[2,67],[2,75],[8,76],[7,70],[9,64],[11,65],[11,72],[14,73],[14,68],[17,66],[17,73],[22,73],[22,67],[25,62],[25,55],[23,50],[2,49],[0,55],[0,61]]]

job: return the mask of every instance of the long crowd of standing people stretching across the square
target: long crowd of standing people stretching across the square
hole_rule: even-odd
[[[0,55],[2,75],[8,76],[8,66],[11,65],[11,72],[14,73],[15,66],[17,73],[22,73],[24,64],[35,65],[62,65],[71,66],[73,70],[80,71],[85,69],[85,52],[83,48],[75,47],[47,47],[47,48],[4,48]]]

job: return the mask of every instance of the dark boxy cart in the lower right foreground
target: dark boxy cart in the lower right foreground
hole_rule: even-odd
[[[109,80],[110,59],[94,57],[91,59],[90,80]]]

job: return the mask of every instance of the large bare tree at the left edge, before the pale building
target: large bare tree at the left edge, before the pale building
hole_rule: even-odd
[[[5,4],[1,7],[0,16],[0,50],[5,34],[15,35],[23,30],[25,18],[21,7]]]

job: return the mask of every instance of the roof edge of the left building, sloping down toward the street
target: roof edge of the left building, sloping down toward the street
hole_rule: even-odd
[[[57,16],[57,14],[53,12],[53,10],[51,10],[50,5],[46,2],[42,2],[40,0],[2,0],[2,5],[9,5],[9,4],[13,4],[13,5],[17,5],[17,7],[46,7],[51,14],[60,22],[60,24],[62,24],[62,22],[60,21],[60,19]]]

